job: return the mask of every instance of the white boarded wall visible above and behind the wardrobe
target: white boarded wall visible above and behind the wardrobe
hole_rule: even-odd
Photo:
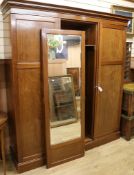
[[[50,4],[59,4],[66,5],[71,7],[78,7],[83,9],[96,10],[101,12],[111,12],[112,5],[119,5],[124,7],[134,8],[133,2],[128,2],[125,0],[33,0],[39,2],[46,2]],[[0,0],[2,2],[2,0]],[[130,38],[130,40],[134,41],[134,38]],[[0,59],[4,59],[4,50],[3,50],[3,24],[2,24],[2,15],[0,12]],[[134,44],[132,56],[134,57]]]

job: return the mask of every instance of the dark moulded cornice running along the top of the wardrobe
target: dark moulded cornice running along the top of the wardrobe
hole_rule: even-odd
[[[74,8],[74,7],[68,7],[68,6],[60,6],[55,4],[47,4],[47,3],[41,3],[41,2],[34,2],[34,1],[26,1],[26,0],[5,0],[1,4],[2,12],[6,13],[10,8],[24,8],[24,9],[40,9],[40,10],[46,10],[46,11],[58,11],[58,12],[64,12],[64,13],[70,13],[70,14],[77,14],[77,15],[89,15],[90,17],[96,17],[96,18],[105,18],[105,19],[118,19],[119,21],[127,22],[128,18],[122,17],[115,14],[110,13],[104,13],[104,12],[96,12],[93,10],[86,10],[86,9],[80,9],[80,8]]]

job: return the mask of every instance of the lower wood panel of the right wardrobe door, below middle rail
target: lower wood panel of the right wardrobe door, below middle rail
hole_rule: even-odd
[[[102,66],[100,76],[103,92],[98,92],[95,137],[104,136],[119,129],[122,65]]]

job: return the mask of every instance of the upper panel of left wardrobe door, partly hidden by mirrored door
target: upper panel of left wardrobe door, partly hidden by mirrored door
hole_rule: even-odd
[[[41,28],[57,28],[56,20],[30,22],[29,20],[17,20],[18,61],[40,61]]]

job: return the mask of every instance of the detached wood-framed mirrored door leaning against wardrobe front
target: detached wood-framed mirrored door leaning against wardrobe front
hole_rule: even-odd
[[[84,64],[84,32],[42,30],[48,167],[84,154]]]

